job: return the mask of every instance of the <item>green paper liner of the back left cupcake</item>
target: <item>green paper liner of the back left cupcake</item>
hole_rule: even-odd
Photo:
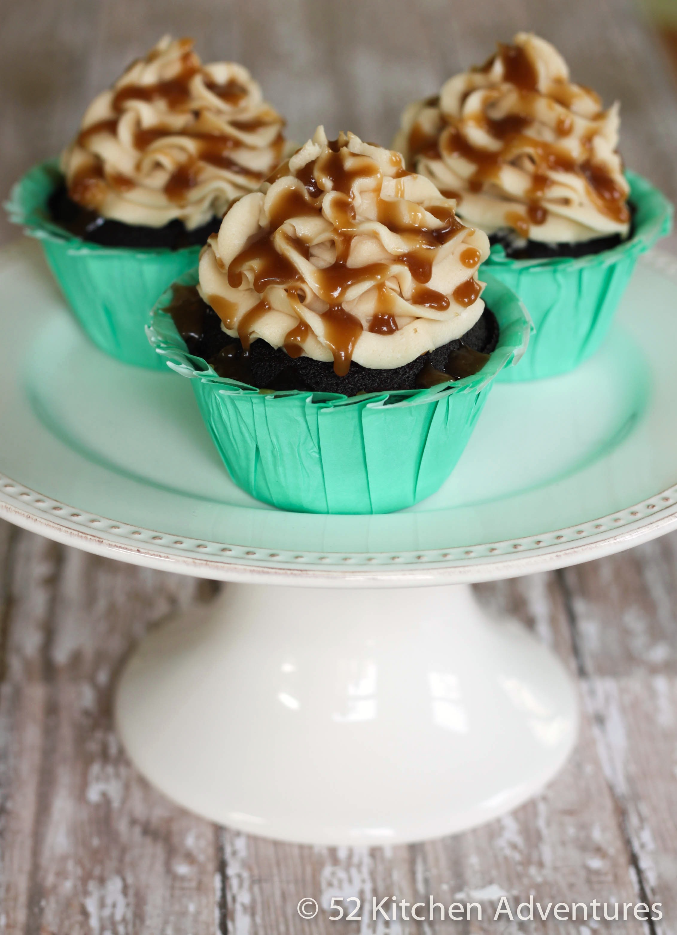
[[[125,364],[164,369],[144,325],[169,283],[195,266],[200,247],[101,247],[75,237],[50,220],[48,201],[61,178],[55,161],[34,166],[9,195],[9,220],[40,241],[68,305],[97,347]]]

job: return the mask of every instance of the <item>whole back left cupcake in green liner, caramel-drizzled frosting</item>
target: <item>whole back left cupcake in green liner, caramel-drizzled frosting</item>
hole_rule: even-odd
[[[59,165],[15,188],[12,220],[40,237],[102,350],[157,367],[149,310],[280,163],[283,123],[242,65],[203,65],[191,39],[165,37],[94,98]]]

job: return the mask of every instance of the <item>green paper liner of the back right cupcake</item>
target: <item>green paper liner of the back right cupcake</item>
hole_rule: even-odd
[[[635,232],[613,250],[581,257],[512,260],[495,244],[480,275],[491,273],[519,295],[536,334],[519,367],[499,381],[567,373],[598,350],[641,253],[670,232],[672,206],[647,180],[627,172]]]

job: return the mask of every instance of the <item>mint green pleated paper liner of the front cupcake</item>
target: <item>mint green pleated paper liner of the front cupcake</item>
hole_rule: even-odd
[[[526,350],[531,322],[493,277],[485,298],[500,325],[483,369],[427,390],[364,396],[259,391],[219,377],[186,345],[166,309],[148,337],[169,367],[189,377],[209,433],[234,482],[281,510],[386,513],[434,494],[449,477],[497,374]],[[197,271],[180,279],[195,285]]]

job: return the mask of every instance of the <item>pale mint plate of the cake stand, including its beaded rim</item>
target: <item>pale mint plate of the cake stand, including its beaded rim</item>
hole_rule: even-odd
[[[409,510],[277,510],[231,482],[190,381],[99,352],[35,244],[0,252],[0,510],[53,539],[206,577],[480,581],[677,525],[677,267],[642,260],[574,372],[499,384],[451,478]]]

